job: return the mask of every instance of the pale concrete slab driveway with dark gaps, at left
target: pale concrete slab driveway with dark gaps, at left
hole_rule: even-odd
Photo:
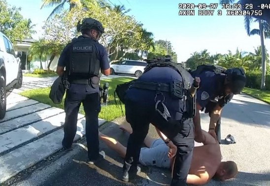
[[[65,112],[17,93],[48,87],[56,77],[24,77],[21,89],[7,97],[7,112],[0,120],[0,184],[62,149]],[[105,120],[99,119],[99,125]],[[84,115],[78,115],[74,141],[85,135]]]

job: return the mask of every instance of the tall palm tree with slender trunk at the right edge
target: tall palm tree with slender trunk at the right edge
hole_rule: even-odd
[[[236,0],[219,0],[220,3],[234,3]],[[237,0],[236,3],[244,4],[241,2],[241,0]],[[264,37],[265,35],[268,36],[269,34],[265,34],[267,31],[268,33],[270,32],[269,26],[264,26],[268,25],[267,21],[262,20],[262,19],[256,19],[256,21],[259,22],[259,32],[257,30],[254,30],[252,33],[250,31],[250,23],[254,21],[254,18],[252,16],[244,16],[244,23],[245,23],[245,29],[247,32],[247,35],[254,35],[254,34],[260,34],[261,37],[261,46],[262,46],[262,81],[261,81],[261,89],[265,89],[265,77],[266,77],[266,52],[265,52],[265,44],[264,44]],[[268,29],[268,30],[267,30]]]

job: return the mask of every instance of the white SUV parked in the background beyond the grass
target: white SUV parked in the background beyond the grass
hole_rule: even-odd
[[[147,63],[144,61],[124,60],[110,65],[110,74],[133,74],[141,76]]]

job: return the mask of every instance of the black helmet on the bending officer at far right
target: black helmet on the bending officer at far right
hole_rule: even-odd
[[[242,68],[231,68],[225,71],[229,86],[234,94],[240,94],[246,84],[245,71]]]

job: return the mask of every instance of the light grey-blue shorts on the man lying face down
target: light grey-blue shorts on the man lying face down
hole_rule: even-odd
[[[153,142],[150,148],[141,148],[139,162],[144,166],[156,166],[170,168],[170,158],[168,157],[169,147],[162,139]]]

